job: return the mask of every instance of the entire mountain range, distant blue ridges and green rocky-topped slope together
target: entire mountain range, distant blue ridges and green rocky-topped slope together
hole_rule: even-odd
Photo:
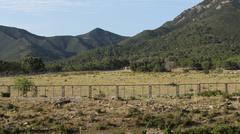
[[[41,37],[1,26],[0,59],[16,60],[33,53],[45,61],[64,59],[62,64],[76,70],[114,66],[115,59],[161,58],[178,66],[211,59],[218,65],[229,58],[240,59],[239,31],[239,0],[204,0],[161,27],[130,38],[102,29],[79,36]]]

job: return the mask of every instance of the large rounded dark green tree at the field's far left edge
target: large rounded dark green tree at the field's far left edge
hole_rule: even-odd
[[[21,66],[26,73],[42,72],[45,70],[42,59],[31,55],[27,55],[22,59]]]

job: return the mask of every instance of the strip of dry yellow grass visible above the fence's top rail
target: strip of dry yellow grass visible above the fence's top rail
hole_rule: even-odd
[[[19,77],[19,76],[18,76]],[[133,73],[125,71],[66,72],[26,76],[36,85],[105,85],[240,82],[240,73]],[[13,84],[17,77],[0,77],[0,85]]]

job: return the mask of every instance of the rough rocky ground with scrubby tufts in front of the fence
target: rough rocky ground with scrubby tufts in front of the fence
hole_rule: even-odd
[[[240,125],[238,98],[0,98],[0,133],[187,133],[216,124]]]

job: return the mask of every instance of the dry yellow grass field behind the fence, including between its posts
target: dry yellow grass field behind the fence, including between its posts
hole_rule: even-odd
[[[134,73],[127,71],[105,71],[105,72],[64,72],[31,76],[1,77],[0,85],[13,85],[18,77],[27,77],[36,85],[113,85],[95,86],[93,96],[104,94],[108,97],[116,96],[115,85],[128,84],[189,84],[189,83],[239,83],[240,73],[225,72],[204,74],[201,72],[172,72],[172,73]],[[170,95],[176,96],[174,86],[153,86],[153,96]],[[0,92],[6,92],[6,87],[0,87]],[[225,90],[224,84],[202,84],[204,90]],[[88,86],[66,86],[67,97],[88,97]],[[180,86],[180,94],[196,94],[198,85]],[[19,91],[11,90],[12,96],[18,96]],[[60,97],[61,86],[38,87],[38,96]],[[119,94],[121,97],[148,97],[149,88],[146,86],[120,86]],[[240,84],[229,85],[229,92],[240,92]]]

